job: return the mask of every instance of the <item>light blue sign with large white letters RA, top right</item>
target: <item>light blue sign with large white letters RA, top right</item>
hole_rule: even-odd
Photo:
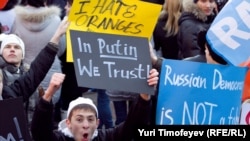
[[[235,66],[250,58],[250,0],[230,0],[214,19],[207,39],[214,51]]]

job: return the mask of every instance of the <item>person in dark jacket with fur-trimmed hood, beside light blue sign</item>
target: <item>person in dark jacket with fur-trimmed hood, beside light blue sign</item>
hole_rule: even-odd
[[[204,54],[197,43],[200,31],[208,29],[215,14],[215,0],[185,0],[177,35],[179,59]]]

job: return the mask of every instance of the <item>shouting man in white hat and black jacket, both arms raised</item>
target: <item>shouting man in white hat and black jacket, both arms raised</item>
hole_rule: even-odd
[[[158,75],[156,69],[151,69],[147,80],[149,86],[157,85]],[[59,123],[58,130],[53,130],[51,98],[58,85],[62,83],[64,75],[57,74],[56,77],[58,78],[54,79],[52,86],[48,87],[36,106],[31,124],[31,133],[35,141],[130,141],[134,137],[136,127],[148,123],[151,106],[148,94],[138,95],[127,119],[117,127],[109,129],[98,129],[99,114],[93,101],[78,97],[70,102],[67,117]]]

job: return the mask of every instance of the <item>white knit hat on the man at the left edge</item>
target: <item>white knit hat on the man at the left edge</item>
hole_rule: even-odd
[[[11,44],[11,43],[18,44],[21,47],[21,49],[23,51],[23,58],[24,58],[24,55],[25,55],[25,46],[24,46],[23,40],[20,37],[18,37],[17,35],[15,35],[15,34],[8,34],[8,35],[5,35],[2,38],[2,43],[1,43],[1,48],[0,48],[0,54],[2,55],[3,48],[6,45]]]

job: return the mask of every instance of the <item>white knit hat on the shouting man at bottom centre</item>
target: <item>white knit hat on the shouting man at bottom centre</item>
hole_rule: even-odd
[[[69,117],[69,113],[72,111],[72,109],[75,106],[80,105],[80,104],[88,104],[88,105],[92,106],[95,109],[96,115],[98,117],[98,111],[97,111],[97,108],[96,108],[95,104],[93,103],[93,101],[90,98],[78,97],[77,99],[75,99],[69,103],[67,118]]]

